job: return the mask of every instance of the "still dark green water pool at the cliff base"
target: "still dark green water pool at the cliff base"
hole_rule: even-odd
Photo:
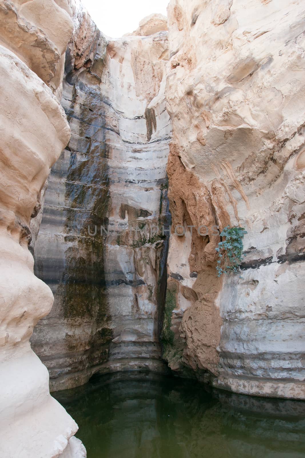
[[[88,458],[304,458],[305,403],[139,373],[54,393]]]

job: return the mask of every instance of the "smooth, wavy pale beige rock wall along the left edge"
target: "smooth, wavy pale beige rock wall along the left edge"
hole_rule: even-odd
[[[0,2],[0,455],[81,458],[77,425],[50,396],[29,338],[53,295],[34,276],[30,220],[70,139],[57,95],[73,30],[66,1]],[[52,92],[52,90],[53,92]]]

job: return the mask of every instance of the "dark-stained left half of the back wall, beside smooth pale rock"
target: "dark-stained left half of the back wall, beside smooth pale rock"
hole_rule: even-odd
[[[32,347],[48,367],[51,389],[86,382],[107,361],[112,340],[100,231],[109,207],[107,110],[100,91],[72,69],[67,59],[63,105],[72,136],[51,171],[35,247],[35,274],[51,287],[54,306],[35,328]]]

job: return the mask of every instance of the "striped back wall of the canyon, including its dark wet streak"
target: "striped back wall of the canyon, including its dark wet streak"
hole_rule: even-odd
[[[31,342],[52,390],[96,371],[164,370],[167,34],[107,43],[79,5],[73,22],[62,98],[71,139],[35,244],[35,273],[55,301]]]

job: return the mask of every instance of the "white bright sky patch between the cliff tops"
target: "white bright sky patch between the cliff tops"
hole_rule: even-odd
[[[112,38],[134,32],[139,22],[152,13],[166,16],[169,0],[82,0],[102,33]]]

